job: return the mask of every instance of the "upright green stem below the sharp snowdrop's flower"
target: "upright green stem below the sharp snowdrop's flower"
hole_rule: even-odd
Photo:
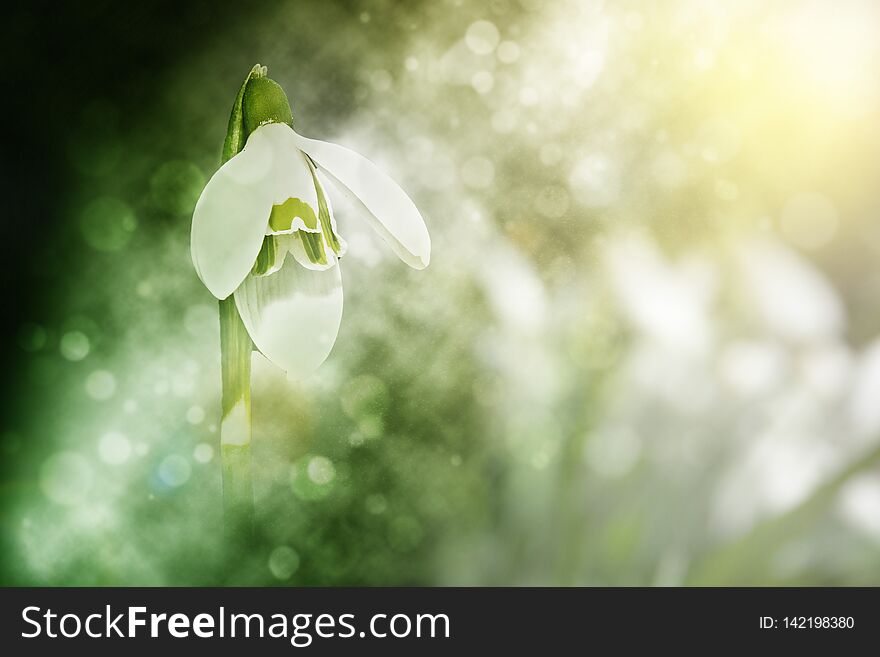
[[[223,381],[220,456],[227,537],[247,540],[254,531],[251,475],[251,351],[253,344],[230,296],[220,302],[220,369]]]

